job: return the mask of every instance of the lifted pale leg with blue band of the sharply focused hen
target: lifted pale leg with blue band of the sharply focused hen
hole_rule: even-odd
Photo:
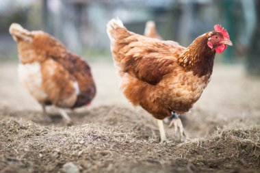
[[[182,140],[186,135],[183,129],[183,124],[181,123],[181,119],[179,118],[178,114],[174,113],[172,116],[170,116],[170,125],[169,127],[172,127],[174,125],[174,135],[177,136],[178,129],[179,129],[179,139]]]

